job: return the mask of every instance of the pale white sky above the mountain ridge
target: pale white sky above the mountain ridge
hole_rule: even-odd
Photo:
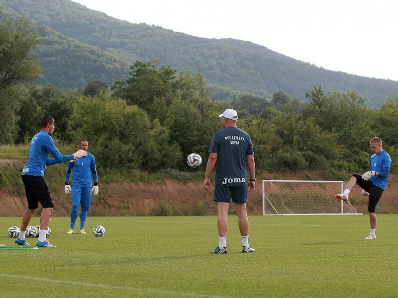
[[[327,70],[398,81],[395,0],[73,0],[131,23],[251,41]]]

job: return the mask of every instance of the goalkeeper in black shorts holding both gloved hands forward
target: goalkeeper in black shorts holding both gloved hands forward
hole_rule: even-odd
[[[41,118],[41,130],[30,141],[28,160],[22,170],[22,182],[25,186],[26,199],[28,207],[22,216],[21,231],[15,243],[18,245],[29,245],[26,241],[26,227],[28,226],[39,203],[43,207],[40,215],[39,239],[36,243],[38,247],[56,247],[50,244],[46,238],[48,222],[51,212],[54,208],[51,199],[50,190],[44,180],[44,171],[46,165],[53,165],[59,162],[67,162],[71,159],[81,158],[87,155],[86,151],[78,150],[70,155],[62,155],[54,145],[51,138],[54,132],[54,118],[50,115],[44,115]],[[54,158],[48,159],[49,154]]]

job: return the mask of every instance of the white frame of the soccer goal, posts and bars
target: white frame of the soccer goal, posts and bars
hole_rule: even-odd
[[[343,187],[344,187],[344,181],[322,181],[322,180],[263,180],[263,215],[362,215],[362,213],[357,213],[356,210],[354,209],[354,207],[352,207],[351,203],[349,201],[342,201],[340,203],[340,212],[339,213],[279,213],[276,208],[274,207],[274,205],[272,204],[272,202],[269,200],[269,198],[267,198],[266,195],[266,182],[271,182],[271,183],[279,183],[279,182],[284,182],[284,183],[339,183],[340,184],[340,189],[336,189],[336,193],[342,193],[343,192]],[[334,197],[330,198],[330,200],[336,200]],[[268,204],[271,206],[272,212],[268,213],[266,212],[266,203],[268,202]],[[338,203],[338,202],[337,202]],[[344,213],[344,205],[347,204],[348,206],[350,206],[349,209],[352,209],[355,211],[355,213]]]

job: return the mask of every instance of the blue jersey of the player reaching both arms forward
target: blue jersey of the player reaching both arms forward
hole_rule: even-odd
[[[44,176],[51,151],[58,151],[53,138],[45,131],[40,131],[30,141],[28,160],[23,167],[22,175]]]

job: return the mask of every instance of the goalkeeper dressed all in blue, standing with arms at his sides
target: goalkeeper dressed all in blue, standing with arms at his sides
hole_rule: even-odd
[[[65,193],[69,195],[72,193],[72,211],[71,211],[71,227],[67,234],[75,232],[75,223],[78,217],[79,205],[80,210],[80,231],[81,234],[86,234],[84,226],[86,224],[87,212],[90,211],[91,193],[98,195],[98,176],[96,167],[96,158],[90,152],[87,152],[89,143],[87,140],[80,140],[78,149],[84,150],[87,156],[79,158],[78,161],[71,160],[68,163],[65,175]],[[69,185],[69,179],[72,175],[72,187]],[[91,185],[91,178],[93,177],[94,186]]]

